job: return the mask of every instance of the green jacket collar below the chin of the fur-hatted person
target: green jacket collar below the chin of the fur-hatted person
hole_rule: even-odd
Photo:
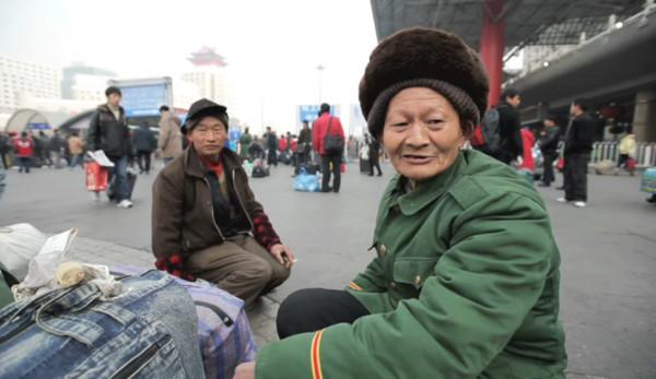
[[[389,206],[398,204],[401,213],[407,216],[415,214],[450,188],[462,175],[464,165],[466,165],[465,158],[462,153],[459,153],[449,168],[431,179],[419,182],[414,190],[407,193],[403,193],[402,186],[406,186],[408,179],[397,175],[394,179],[396,189],[391,193]]]

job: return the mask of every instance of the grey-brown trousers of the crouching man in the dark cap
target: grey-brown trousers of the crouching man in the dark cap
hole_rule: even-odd
[[[236,236],[192,252],[185,265],[192,275],[216,284],[246,306],[290,276],[290,271],[251,236]]]

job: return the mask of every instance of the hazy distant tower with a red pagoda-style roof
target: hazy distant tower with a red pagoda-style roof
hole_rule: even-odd
[[[225,105],[227,111],[234,111],[236,106],[235,91],[231,84],[230,70],[225,58],[214,49],[203,47],[192,52],[188,60],[192,69],[181,75],[186,82],[198,86],[201,97]]]

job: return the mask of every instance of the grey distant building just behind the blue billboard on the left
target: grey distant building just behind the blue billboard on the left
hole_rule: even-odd
[[[61,97],[104,103],[107,81],[114,78],[116,73],[113,71],[73,63],[62,70]]]

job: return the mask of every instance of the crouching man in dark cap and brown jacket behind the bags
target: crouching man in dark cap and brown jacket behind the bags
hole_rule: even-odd
[[[189,146],[153,183],[155,265],[215,283],[250,305],[290,276],[294,256],[255,200],[241,158],[224,149],[225,107],[194,103],[181,131]]]

